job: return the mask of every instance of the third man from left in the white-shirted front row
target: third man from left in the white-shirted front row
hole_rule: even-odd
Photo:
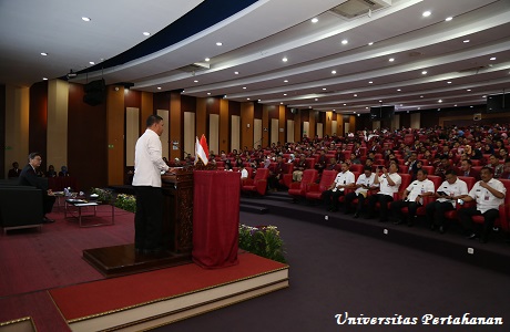
[[[398,193],[402,178],[398,175],[397,163],[390,163],[389,169],[382,167],[382,174],[376,175],[375,184],[379,185],[379,193],[368,197],[367,218],[374,218],[376,203],[379,201],[379,221],[388,221],[388,203],[394,200],[394,194]]]

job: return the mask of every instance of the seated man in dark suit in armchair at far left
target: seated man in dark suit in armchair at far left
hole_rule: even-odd
[[[42,157],[39,153],[31,153],[29,155],[29,164],[21,170],[18,184],[20,186],[32,186],[42,190],[42,208],[44,214],[42,222],[48,224],[54,222],[54,220],[49,219],[45,215],[51,212],[53,204],[55,203],[55,197],[51,189],[48,188],[48,179],[37,175],[41,162]]]

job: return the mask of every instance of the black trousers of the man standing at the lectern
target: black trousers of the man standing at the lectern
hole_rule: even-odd
[[[163,247],[163,191],[159,187],[133,186],[136,194],[134,247],[153,250]]]

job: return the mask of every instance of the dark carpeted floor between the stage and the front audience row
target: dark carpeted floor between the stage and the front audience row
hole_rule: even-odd
[[[273,215],[241,214],[274,225],[286,242],[288,289],[156,331],[508,331],[508,276],[370,237]],[[501,261],[501,263],[508,263]],[[335,315],[501,317],[493,325],[338,325]]]

